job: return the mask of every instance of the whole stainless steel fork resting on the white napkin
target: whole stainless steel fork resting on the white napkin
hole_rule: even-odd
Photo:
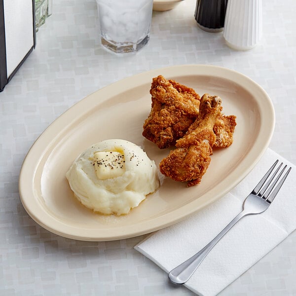
[[[199,264],[203,259],[209,254],[212,248],[220,241],[224,234],[240,219],[247,215],[261,214],[266,211],[269,205],[274,200],[284,181],[286,180],[291,167],[285,173],[283,178],[279,181],[280,177],[287,168],[287,165],[279,172],[283,163],[281,163],[274,171],[272,176],[268,177],[273,172],[276,167],[278,160],[271,166],[271,168],[266,172],[263,178],[260,180],[258,185],[253,189],[253,191],[247,196],[243,203],[243,211],[239,213],[222,231],[203,249],[198,253],[193,255],[191,258],[187,259],[181,263],[176,268],[169,272],[169,279],[174,284],[184,284],[192,276],[194,271],[197,269]],[[268,180],[267,180],[268,179]],[[276,186],[276,187],[275,187]]]

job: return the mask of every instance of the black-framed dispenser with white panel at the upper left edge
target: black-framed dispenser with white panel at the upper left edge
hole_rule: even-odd
[[[35,0],[18,0],[13,10],[10,6],[12,2],[9,1],[0,0],[0,92],[36,46]],[[10,9],[4,11],[5,6],[9,6]],[[13,12],[15,15],[13,15]],[[20,15],[22,15],[21,18]],[[9,24],[10,27],[7,28],[6,26],[5,28],[5,23],[6,25]],[[16,32],[18,34],[15,34]],[[26,44],[22,47],[22,41],[16,39],[18,36],[30,40],[28,41],[30,42],[29,46]],[[7,42],[8,37],[9,42]],[[17,54],[11,55],[14,52],[17,52]]]

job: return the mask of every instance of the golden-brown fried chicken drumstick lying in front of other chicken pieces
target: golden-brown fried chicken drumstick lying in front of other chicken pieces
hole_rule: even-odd
[[[183,138],[176,142],[176,149],[162,159],[160,172],[175,181],[199,184],[211,162],[212,146],[216,141],[213,127],[221,114],[221,99],[204,94],[200,100],[200,112]]]

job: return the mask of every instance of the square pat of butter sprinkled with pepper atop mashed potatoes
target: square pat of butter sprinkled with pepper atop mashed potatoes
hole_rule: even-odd
[[[98,179],[106,180],[121,176],[125,172],[124,155],[116,151],[94,153],[94,167]]]

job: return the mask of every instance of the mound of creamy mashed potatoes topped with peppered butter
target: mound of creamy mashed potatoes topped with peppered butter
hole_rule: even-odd
[[[76,158],[66,177],[76,198],[102,214],[127,214],[159,186],[153,160],[137,145],[107,140]]]

